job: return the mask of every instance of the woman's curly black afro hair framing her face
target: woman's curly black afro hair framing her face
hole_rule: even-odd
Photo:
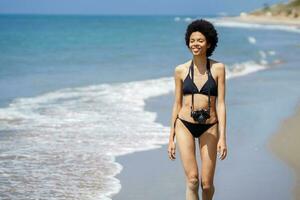
[[[207,42],[210,44],[210,47],[206,51],[206,56],[207,57],[211,56],[215,48],[217,47],[217,43],[218,43],[218,33],[214,25],[204,19],[197,19],[192,21],[188,25],[185,33],[185,43],[188,48],[189,48],[190,36],[192,35],[193,32],[197,32],[197,31],[202,33],[205,36]]]

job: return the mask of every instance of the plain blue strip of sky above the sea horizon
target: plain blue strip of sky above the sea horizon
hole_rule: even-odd
[[[0,13],[86,15],[238,15],[287,0],[0,0]]]

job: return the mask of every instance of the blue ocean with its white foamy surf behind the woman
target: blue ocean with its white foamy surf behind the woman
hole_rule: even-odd
[[[294,27],[218,16],[1,15],[0,198],[111,199],[122,187],[116,156],[168,143],[169,127],[155,122],[145,100],[174,91],[174,68],[191,59],[186,26],[200,17],[216,26],[211,58],[226,65],[227,79],[272,74],[298,59]],[[265,93],[277,92],[268,86]],[[298,88],[285,100],[290,106],[274,116],[292,112]],[[247,93],[249,102],[259,98],[256,92]],[[240,119],[237,129],[249,120]]]

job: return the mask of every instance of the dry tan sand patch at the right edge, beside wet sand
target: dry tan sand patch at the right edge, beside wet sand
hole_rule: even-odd
[[[286,163],[296,175],[293,188],[295,200],[300,200],[300,103],[295,113],[283,120],[278,130],[270,137],[267,148],[284,163]],[[287,148],[288,147],[288,148]]]

